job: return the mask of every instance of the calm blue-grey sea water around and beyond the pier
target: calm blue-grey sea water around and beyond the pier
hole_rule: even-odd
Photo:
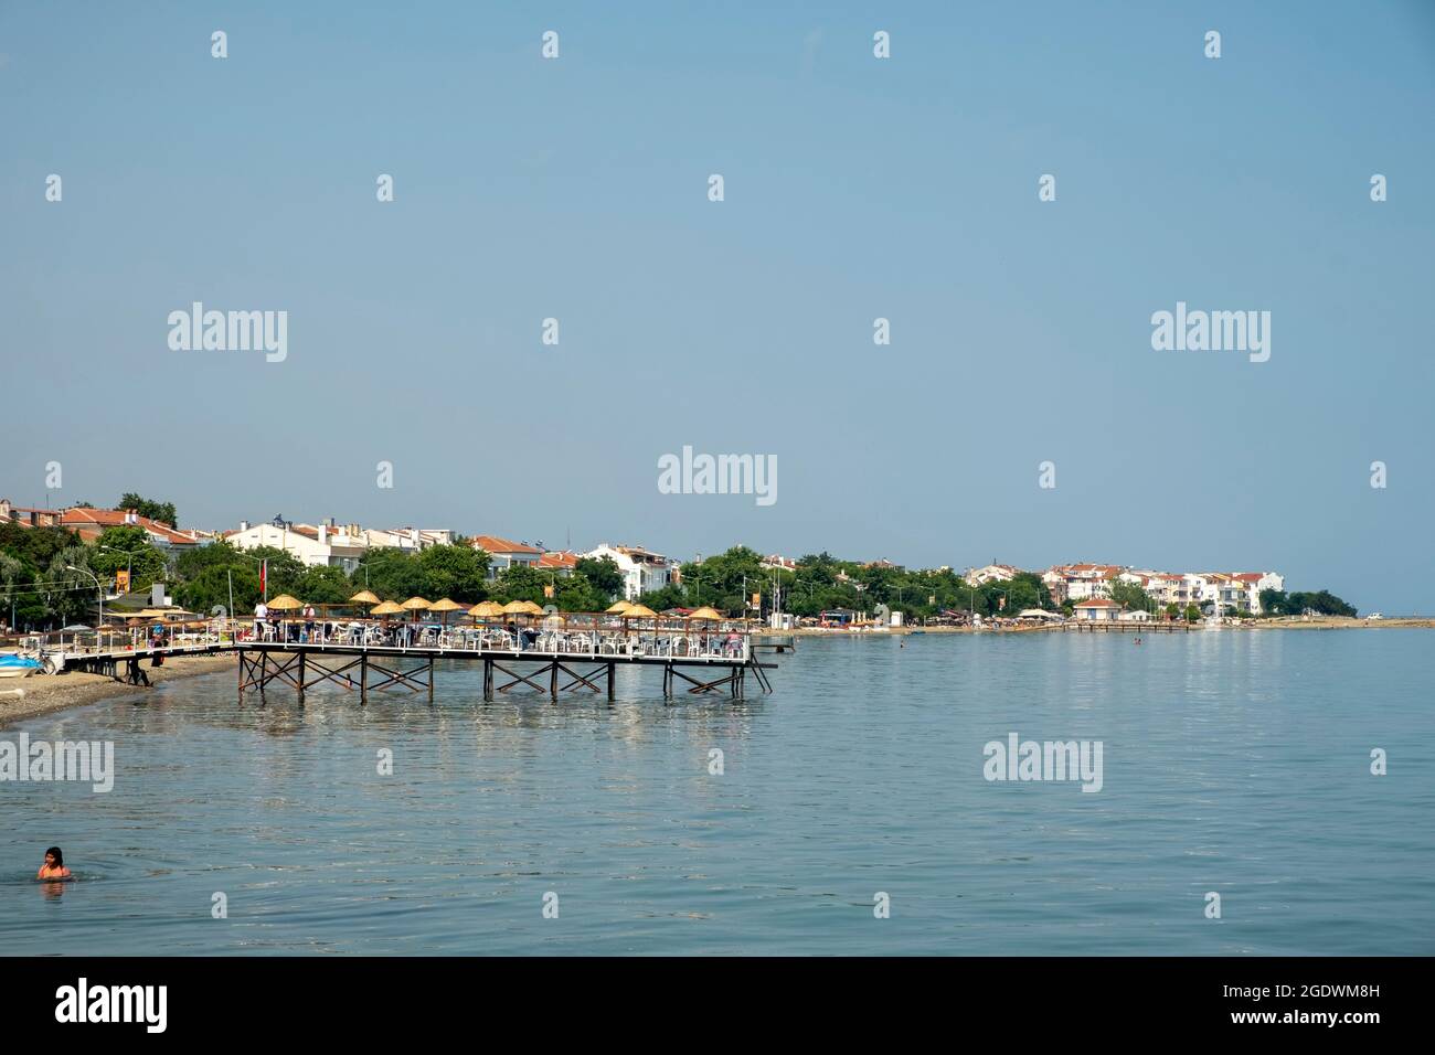
[[[109,794],[0,784],[0,952],[1428,955],[1432,655],[1398,629],[802,639],[772,696],[669,705],[629,667],[611,705],[485,703],[456,662],[432,706],[169,682],[0,729],[116,766]],[[1012,732],[1101,741],[1101,791],[984,779]],[[76,881],[34,880],[52,844]]]

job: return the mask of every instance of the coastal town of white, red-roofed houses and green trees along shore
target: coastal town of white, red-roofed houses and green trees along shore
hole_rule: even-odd
[[[185,611],[240,614],[261,597],[293,594],[340,606],[357,590],[382,600],[423,596],[461,604],[530,600],[561,611],[601,611],[643,599],[656,611],[712,606],[773,626],[976,619],[1188,620],[1210,616],[1355,616],[1320,590],[1287,591],[1277,571],[1159,571],[1121,564],[1023,570],[986,564],[905,568],[827,553],[762,555],[745,545],[679,561],[643,545],[584,551],[449,528],[364,528],[334,518],[283,517],[234,528],[181,528],[172,502],[125,494],[112,508],[63,510],[0,500],[0,622],[49,630],[162,597]],[[261,583],[263,578],[263,583]],[[156,584],[159,589],[156,590]]]

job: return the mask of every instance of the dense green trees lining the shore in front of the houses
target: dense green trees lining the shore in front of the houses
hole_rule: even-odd
[[[174,522],[171,502],[154,502],[126,494],[121,504],[144,515]],[[429,600],[451,597],[459,604],[482,600],[507,603],[531,600],[555,604],[564,611],[597,611],[623,594],[623,574],[608,560],[580,558],[577,570],[560,576],[548,568],[514,566],[489,576],[489,555],[466,543],[433,545],[413,553],[396,548],[370,550],[357,568],[346,574],[337,567],[311,567],[276,548],[235,550],[212,543],[184,551],[158,550],[142,528],[106,528],[93,545],[83,545],[65,528],[30,528],[0,524],[0,601],[13,610],[16,626],[49,627],[70,622],[92,622],[95,580],[110,584],[115,574],[131,571],[131,590],[146,590],[166,581],[175,601],[191,611],[215,609],[237,614],[253,610],[260,600],[260,563],[268,561],[268,596],[293,594],[314,604],[344,604],[359,590],[382,600],[403,601],[413,596]],[[1007,581],[969,586],[951,568],[907,570],[877,563],[861,564],[828,553],[808,554],[794,568],[768,568],[762,555],[745,545],[689,561],[680,581],[643,596],[643,603],[663,611],[672,607],[712,606],[729,614],[752,613],[751,599],[759,594],[759,609],[772,610],[781,596],[782,610],[817,616],[831,609],[874,611],[878,606],[903,611],[908,622],[941,613],[980,616],[1016,614],[1023,609],[1058,607],[1050,590],[1030,571]],[[1112,599],[1128,609],[1157,611],[1158,604],[1139,587],[1112,586]],[[1326,590],[1284,593],[1266,590],[1261,604],[1270,614],[1355,616],[1356,610]],[[1063,606],[1071,611],[1071,604]],[[1171,614],[1198,619],[1194,606]],[[0,613],[9,620],[10,611]]]

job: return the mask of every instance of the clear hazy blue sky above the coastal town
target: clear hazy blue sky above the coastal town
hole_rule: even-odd
[[[0,7],[0,494],[1435,607],[1435,4],[356,7]],[[1178,300],[1270,362],[1152,350]],[[659,494],[684,444],[778,502]]]

